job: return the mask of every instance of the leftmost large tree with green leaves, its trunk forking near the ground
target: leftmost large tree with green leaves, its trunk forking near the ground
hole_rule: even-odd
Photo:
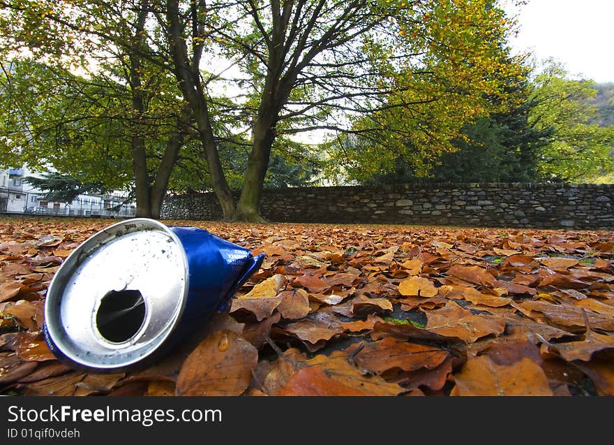
[[[190,133],[190,110],[177,98],[146,27],[149,1],[1,6],[3,57],[20,61],[4,65],[3,124],[10,136],[2,163],[20,159],[88,173],[114,187],[126,184],[130,160],[137,216],[159,217]]]

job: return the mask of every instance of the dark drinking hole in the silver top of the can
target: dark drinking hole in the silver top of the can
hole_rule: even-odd
[[[140,291],[110,291],[96,312],[96,328],[105,340],[122,343],[130,340],[145,321],[145,301]]]

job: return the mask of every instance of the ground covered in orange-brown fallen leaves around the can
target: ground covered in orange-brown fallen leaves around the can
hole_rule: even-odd
[[[614,395],[614,233],[163,221],[267,254],[146,369],[59,363],[47,286],[104,219],[0,219],[0,393]]]

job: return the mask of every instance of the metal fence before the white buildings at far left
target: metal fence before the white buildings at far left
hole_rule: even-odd
[[[135,205],[124,203],[123,196],[81,195],[70,204],[52,203],[40,194],[17,189],[0,188],[0,213],[40,214],[70,217],[126,217],[135,216]]]

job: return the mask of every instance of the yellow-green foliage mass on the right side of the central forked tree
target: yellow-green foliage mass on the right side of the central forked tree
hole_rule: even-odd
[[[509,54],[511,22],[496,2],[435,3],[401,12],[397,45],[414,57],[396,61],[391,52],[380,61],[381,83],[392,93],[384,106],[354,120],[354,138],[339,138],[333,159],[351,180],[368,182],[395,170],[425,177],[443,153],[468,141],[463,130],[471,122],[484,126],[480,118],[519,105],[509,88],[525,80],[526,70]]]

